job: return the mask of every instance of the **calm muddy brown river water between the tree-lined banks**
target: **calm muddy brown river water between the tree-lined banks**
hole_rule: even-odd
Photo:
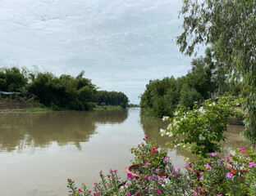
[[[144,136],[155,138],[168,150],[175,167],[183,167],[190,154],[165,145],[158,134],[166,127],[159,118],[140,115],[139,109],[96,112],[47,112],[0,114],[0,195],[67,195],[66,179],[92,189],[104,174],[117,169],[126,179],[130,148]],[[240,136],[244,127],[231,126],[223,152],[248,147]]]

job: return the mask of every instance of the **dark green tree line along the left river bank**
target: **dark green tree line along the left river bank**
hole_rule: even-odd
[[[0,91],[34,95],[40,103],[53,109],[89,110],[96,106],[95,102],[126,108],[129,100],[124,93],[98,91],[84,75],[85,71],[82,71],[76,77],[66,74],[57,77],[49,72],[33,73],[26,68],[2,68]]]

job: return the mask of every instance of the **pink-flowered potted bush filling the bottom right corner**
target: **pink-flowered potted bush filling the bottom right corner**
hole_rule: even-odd
[[[190,169],[190,179],[197,194],[203,195],[256,195],[256,154],[245,148],[235,154],[219,158],[208,154]],[[186,165],[188,167],[189,165]],[[199,170],[199,175],[195,171]]]

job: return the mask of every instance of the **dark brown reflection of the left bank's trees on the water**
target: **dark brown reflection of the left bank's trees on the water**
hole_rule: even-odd
[[[25,148],[45,148],[80,142],[95,134],[98,124],[121,123],[127,110],[96,112],[2,113],[0,114],[0,150],[21,151]]]

